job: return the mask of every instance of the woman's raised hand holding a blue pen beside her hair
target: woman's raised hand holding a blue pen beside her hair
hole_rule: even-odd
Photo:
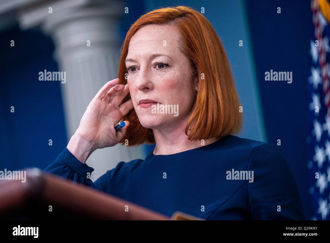
[[[133,109],[133,102],[130,99],[117,108],[129,93],[127,84],[118,82],[118,78],[111,80],[99,90],[68,143],[68,150],[82,163],[85,163],[94,150],[114,146],[126,134],[128,121],[124,121],[126,125],[119,131],[114,126]]]

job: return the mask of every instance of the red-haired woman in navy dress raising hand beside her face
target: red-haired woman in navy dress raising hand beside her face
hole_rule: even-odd
[[[96,94],[46,171],[169,217],[306,219],[280,150],[233,135],[242,128],[242,106],[224,48],[202,14],[182,6],[149,12],[130,27],[121,54],[119,79]],[[126,126],[116,131],[120,120]],[[155,148],[93,183],[88,156],[119,142]]]

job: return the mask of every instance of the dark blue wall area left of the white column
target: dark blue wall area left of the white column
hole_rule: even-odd
[[[40,31],[20,31],[16,26],[0,34],[2,170],[44,169],[66,146],[60,83],[39,81],[40,71],[57,71],[53,49]]]

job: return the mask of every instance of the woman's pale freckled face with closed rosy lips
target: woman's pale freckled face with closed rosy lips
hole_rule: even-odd
[[[129,42],[127,83],[134,109],[146,128],[179,125],[191,114],[197,79],[193,80],[179,41],[175,26],[150,24],[140,28]]]

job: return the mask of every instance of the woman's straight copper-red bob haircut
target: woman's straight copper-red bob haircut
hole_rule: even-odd
[[[120,50],[119,84],[127,83],[125,59],[129,42],[137,30],[148,24],[169,24],[179,29],[180,50],[190,60],[193,77],[198,77],[194,109],[185,128],[188,140],[238,134],[242,129],[243,113],[240,112],[241,102],[225,50],[211,23],[192,8],[177,6],[155,9],[131,25]],[[128,94],[121,104],[130,98]],[[130,124],[121,144],[124,145],[126,139],[128,146],[155,143],[152,129],[141,125],[134,108],[122,120]]]

